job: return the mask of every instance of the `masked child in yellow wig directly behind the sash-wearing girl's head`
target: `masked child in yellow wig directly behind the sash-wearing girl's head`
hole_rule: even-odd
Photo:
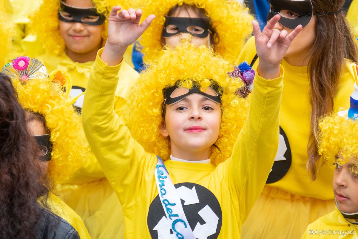
[[[196,47],[209,44],[233,63],[252,33],[253,16],[238,1],[138,0],[133,4],[142,8],[145,17],[156,16],[139,39],[144,62],[158,57],[165,44],[175,47],[191,35],[191,44]]]

